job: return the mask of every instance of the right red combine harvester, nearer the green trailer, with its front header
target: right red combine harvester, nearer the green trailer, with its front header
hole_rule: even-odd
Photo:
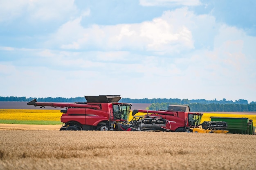
[[[189,131],[190,128],[198,126],[200,124],[202,115],[202,113],[190,112],[189,106],[184,105],[169,105],[167,111],[133,110],[132,116],[134,116],[134,118],[127,124],[119,123],[118,127],[124,131],[153,129],[172,132],[185,132]],[[165,124],[165,126],[163,126],[163,124]]]

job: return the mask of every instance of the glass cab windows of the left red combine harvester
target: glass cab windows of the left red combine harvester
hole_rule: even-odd
[[[130,105],[113,105],[114,119],[127,120],[128,113],[130,111]]]

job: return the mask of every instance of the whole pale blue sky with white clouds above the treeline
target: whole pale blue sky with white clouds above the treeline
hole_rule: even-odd
[[[0,4],[0,96],[256,101],[254,0]]]

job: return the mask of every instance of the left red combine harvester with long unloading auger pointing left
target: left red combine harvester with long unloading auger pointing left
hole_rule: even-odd
[[[120,95],[85,96],[87,102],[37,102],[27,103],[40,107],[60,107],[63,113],[60,130],[114,131],[117,122],[126,122],[131,110],[130,103],[119,103]]]

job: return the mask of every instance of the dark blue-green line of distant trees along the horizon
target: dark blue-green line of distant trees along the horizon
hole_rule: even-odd
[[[26,98],[24,97],[2,97],[0,96],[0,101],[20,101],[20,102],[29,102],[33,99],[36,99],[38,102],[86,102],[84,97],[76,98],[62,98],[62,97],[47,97],[47,98]],[[179,98],[143,98],[143,99],[130,99],[130,98],[121,98],[119,102],[124,103],[151,103],[148,107],[150,110],[166,110],[168,105],[189,105],[190,111],[256,111],[256,102],[248,103],[247,100],[205,100],[205,99],[179,99]]]

